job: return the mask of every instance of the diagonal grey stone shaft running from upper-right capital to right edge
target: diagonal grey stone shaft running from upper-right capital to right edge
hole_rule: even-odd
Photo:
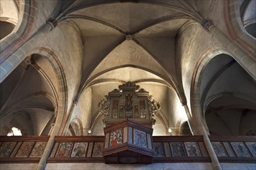
[[[235,42],[232,42],[227,36],[223,34],[210,20],[206,20],[204,25],[206,30],[208,30],[213,37],[223,45],[224,48],[227,48],[229,52],[234,56],[237,63],[244,68],[244,70],[249,73],[254,80],[256,80],[256,57],[249,56],[240,46],[237,46]]]

